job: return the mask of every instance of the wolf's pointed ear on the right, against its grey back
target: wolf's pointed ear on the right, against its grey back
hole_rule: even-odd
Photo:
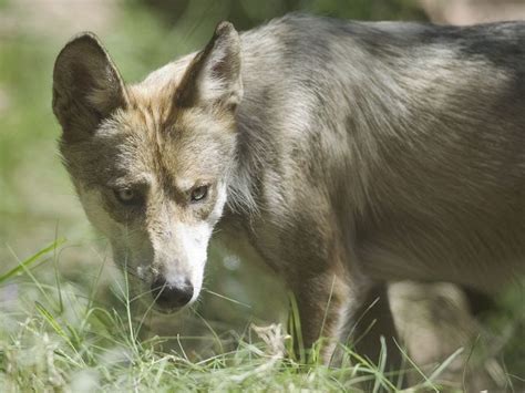
[[[239,35],[231,23],[222,22],[189,64],[177,87],[175,105],[218,104],[233,110],[241,97]]]

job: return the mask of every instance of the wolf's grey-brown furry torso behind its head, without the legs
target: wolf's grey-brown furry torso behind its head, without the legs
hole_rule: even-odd
[[[239,167],[259,209],[313,224],[305,207],[322,200],[352,263],[381,280],[486,290],[523,267],[524,23],[294,17],[243,42]]]

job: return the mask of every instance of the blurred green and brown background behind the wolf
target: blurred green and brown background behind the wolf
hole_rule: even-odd
[[[105,303],[113,299],[107,285],[120,280],[106,242],[83,215],[56,149],[60,128],[51,112],[51,75],[56,54],[72,34],[96,32],[124,79],[134,82],[202,48],[222,20],[246,30],[290,11],[357,20],[469,24],[525,19],[525,1],[0,0],[0,275],[65,237],[60,252],[33,271],[39,280],[54,282],[58,271],[59,280],[78,291],[91,291],[97,281],[97,299]],[[94,272],[101,266],[103,275],[97,278]],[[254,269],[258,268],[212,250],[207,287],[231,300],[205,293],[198,313],[217,331],[243,330],[249,321],[285,319],[286,296],[278,296],[284,293],[282,287]],[[22,291],[31,291],[23,288],[0,285],[0,312],[12,309]],[[511,297],[509,306],[505,303],[504,312],[494,319],[496,331],[515,327],[522,301]],[[208,329],[195,317],[172,319],[175,325],[151,321],[154,331],[165,334],[186,331],[196,335]],[[522,351],[509,355],[516,363],[523,360],[523,343],[514,347]],[[525,369],[524,363],[522,366]]]

